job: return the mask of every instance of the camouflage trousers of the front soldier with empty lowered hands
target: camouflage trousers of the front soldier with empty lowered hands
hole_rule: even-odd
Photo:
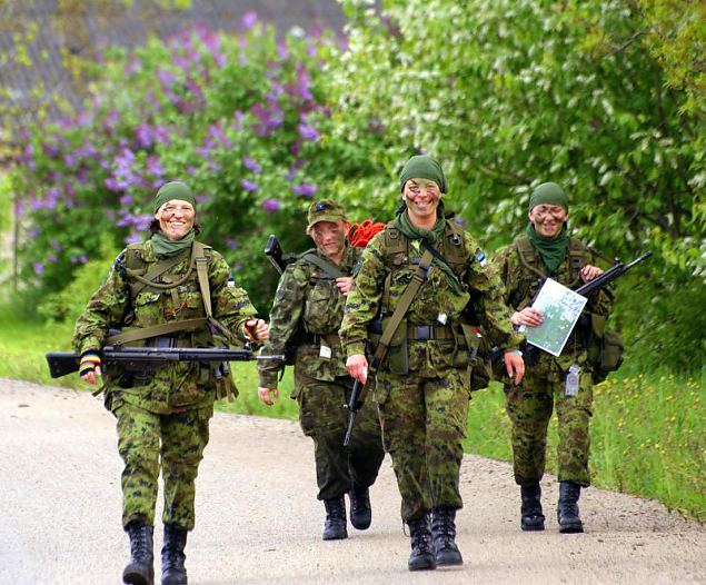
[[[466,370],[455,368],[437,377],[377,374],[382,443],[392,458],[405,522],[436,506],[463,507],[458,484],[468,419],[465,377]]]

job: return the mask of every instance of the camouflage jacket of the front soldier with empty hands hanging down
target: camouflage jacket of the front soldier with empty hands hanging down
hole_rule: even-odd
[[[360,270],[355,279],[354,289],[346,303],[346,311],[340,328],[341,341],[348,356],[364,354],[368,339],[369,323],[376,317],[391,315],[400,295],[410,282],[417,269],[421,252],[415,242],[404,239],[404,254],[391,254],[389,236],[390,224],[377,234],[362,252]],[[451,234],[451,229],[454,234]],[[463,241],[459,232],[463,235]],[[447,325],[457,330],[463,320],[461,314],[467,305],[473,307],[478,325],[483,327],[490,343],[500,348],[514,348],[523,337],[515,333],[509,316],[510,313],[503,300],[503,284],[497,275],[485,265],[485,255],[474,239],[460,228],[451,228],[447,224],[444,235],[445,241],[437,244],[437,251],[445,256],[445,260],[459,276],[463,287],[456,294],[448,277],[432,262],[426,281],[417,292],[409,307],[406,319],[408,325],[434,325],[439,315],[444,314]],[[453,241],[451,241],[453,240]],[[451,261],[449,250],[457,250]],[[386,281],[389,282],[386,294]],[[417,373],[435,371],[446,367],[459,367],[455,364],[454,347],[449,350],[448,343],[410,341],[409,369]]]

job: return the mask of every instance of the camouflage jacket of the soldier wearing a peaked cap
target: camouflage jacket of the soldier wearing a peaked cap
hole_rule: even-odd
[[[326,259],[318,251],[317,255]],[[338,268],[351,274],[359,258],[360,249],[349,246]],[[320,268],[304,258],[289,265],[275,294],[269,339],[262,354],[284,354],[291,341],[299,374],[324,381],[346,376],[346,357],[338,337],[344,305],[345,297],[336,280]],[[330,348],[330,357],[326,348]],[[284,367],[281,363],[260,361],[260,386],[276,388]]]

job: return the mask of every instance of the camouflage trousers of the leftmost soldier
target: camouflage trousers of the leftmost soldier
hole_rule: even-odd
[[[122,525],[140,519],[155,524],[161,464],[165,483],[162,522],[190,531],[196,514],[196,476],[209,439],[212,407],[160,415],[128,403],[120,405],[118,452],[122,472]]]

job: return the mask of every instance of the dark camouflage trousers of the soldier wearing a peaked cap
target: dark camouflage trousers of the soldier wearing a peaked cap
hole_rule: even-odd
[[[350,443],[344,448],[348,426],[344,404],[350,393],[349,378],[321,381],[295,371],[295,383],[299,424],[304,434],[314,439],[318,499],[338,498],[354,484],[371,486],[385,457],[375,401],[365,401],[356,416]]]

